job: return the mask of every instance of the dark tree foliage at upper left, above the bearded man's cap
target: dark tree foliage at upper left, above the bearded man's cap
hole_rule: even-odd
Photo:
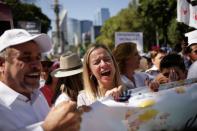
[[[18,21],[39,21],[41,23],[41,32],[47,33],[51,28],[50,19],[42,13],[41,9],[33,4],[23,4],[18,0],[5,0],[6,4],[12,10],[14,25]]]

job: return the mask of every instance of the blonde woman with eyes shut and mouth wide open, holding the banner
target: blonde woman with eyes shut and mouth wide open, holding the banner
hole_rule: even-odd
[[[90,105],[99,98],[122,91],[120,73],[111,51],[102,44],[92,44],[84,55],[84,90],[78,95],[77,105]]]

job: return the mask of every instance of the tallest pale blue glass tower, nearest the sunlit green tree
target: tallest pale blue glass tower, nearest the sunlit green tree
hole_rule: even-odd
[[[110,18],[108,8],[101,8],[97,11],[94,17],[94,25],[103,25],[107,19]]]

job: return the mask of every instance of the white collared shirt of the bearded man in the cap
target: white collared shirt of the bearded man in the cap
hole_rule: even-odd
[[[49,106],[39,90],[29,100],[0,82],[1,131],[43,131],[41,123],[48,112]]]

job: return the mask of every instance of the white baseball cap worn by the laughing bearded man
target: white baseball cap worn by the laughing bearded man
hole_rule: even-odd
[[[38,44],[42,53],[48,52],[52,48],[52,41],[47,34],[32,35],[24,29],[10,29],[0,36],[0,52],[7,47],[23,44],[31,40]]]

